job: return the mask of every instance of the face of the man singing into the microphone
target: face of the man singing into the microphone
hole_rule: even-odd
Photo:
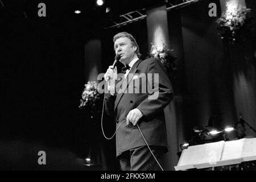
[[[114,43],[115,54],[121,55],[121,63],[129,64],[134,59],[137,47],[131,44],[131,40],[124,37],[115,40]]]

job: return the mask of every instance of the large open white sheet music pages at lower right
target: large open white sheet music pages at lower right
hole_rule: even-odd
[[[183,150],[175,169],[226,166],[250,160],[256,160],[256,138],[189,146]]]

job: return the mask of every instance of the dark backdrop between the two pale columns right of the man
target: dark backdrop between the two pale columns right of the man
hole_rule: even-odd
[[[211,2],[216,3],[220,15],[219,2]],[[221,118],[216,127],[235,122],[232,75],[224,58],[217,17],[208,15],[208,5],[209,1],[202,1],[181,10],[187,90],[180,129],[187,139],[193,126],[204,127],[212,115]]]

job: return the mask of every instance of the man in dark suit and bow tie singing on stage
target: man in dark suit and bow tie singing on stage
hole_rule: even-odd
[[[171,82],[160,60],[139,59],[139,47],[131,34],[120,32],[113,42],[116,55],[126,66],[122,77],[113,66],[104,75],[110,91],[105,97],[105,110],[115,118],[117,128],[120,125],[117,158],[122,170],[158,170],[155,158],[168,151],[163,109],[174,97]]]

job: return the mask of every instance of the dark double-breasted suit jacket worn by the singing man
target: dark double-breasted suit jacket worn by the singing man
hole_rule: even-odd
[[[129,93],[127,93],[127,90],[125,93],[117,93],[114,96],[107,93],[105,97],[106,113],[114,117],[118,127],[118,125],[126,119],[130,110],[135,108],[139,109],[143,113],[143,117],[139,119],[138,125],[141,128],[148,145],[163,146],[165,150],[168,151],[166,123],[163,109],[172,100],[174,93],[163,64],[160,60],[155,58],[146,59],[144,61],[138,60],[131,68],[129,74],[130,73],[138,74],[138,76],[146,75],[147,92],[142,92],[142,85],[145,85],[144,82],[139,81],[139,83],[137,82],[135,84],[135,80],[132,80],[130,75],[127,76],[123,82],[126,83],[124,88],[129,88]],[[158,85],[156,84],[155,88],[154,86],[152,87],[154,90],[153,93],[150,92],[152,89],[148,89],[151,88],[148,87],[148,83],[151,82],[148,73],[152,73],[153,78],[154,73],[159,74],[159,81],[153,79],[155,82],[158,82]],[[141,80],[143,79],[141,78]],[[119,82],[119,84],[120,83],[121,82]],[[134,89],[133,93],[130,93],[130,86]],[[138,88],[140,88],[139,93]],[[137,89],[136,92],[135,89]],[[149,96],[152,96],[152,94],[158,94],[158,98],[150,100]],[[126,121],[121,124],[116,134],[117,156],[123,151],[145,145],[146,143],[137,126],[127,126]]]

